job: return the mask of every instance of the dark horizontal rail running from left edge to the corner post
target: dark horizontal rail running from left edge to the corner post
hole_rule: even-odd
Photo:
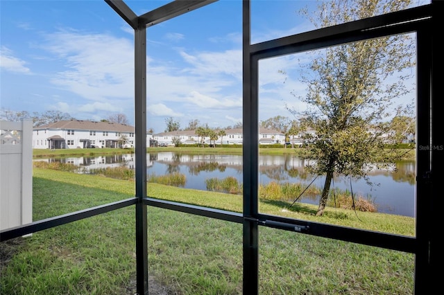
[[[22,226],[15,226],[11,229],[4,229],[0,231],[0,242],[10,240],[13,238],[18,238],[21,237],[22,235],[36,233],[37,231],[43,231],[44,229],[51,229],[51,227],[67,224],[69,222],[83,220],[84,218],[87,217],[92,217],[102,213],[107,213],[120,208],[128,207],[136,204],[137,201],[138,201],[137,198],[124,199],[122,201],[96,206],[82,211],[76,211],[65,215],[59,215],[56,217],[47,218],[45,220],[39,220],[37,222],[24,224]]]

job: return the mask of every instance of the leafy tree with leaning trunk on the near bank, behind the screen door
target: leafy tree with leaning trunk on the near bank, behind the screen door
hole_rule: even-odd
[[[322,1],[311,21],[316,26],[332,26],[402,10],[409,0]],[[308,166],[316,175],[325,174],[325,184],[316,215],[321,216],[334,174],[367,179],[366,164],[377,163],[384,154],[384,120],[393,98],[408,93],[404,69],[414,62],[409,35],[393,35],[364,42],[326,48],[308,64],[302,82],[307,103],[302,115],[315,133],[306,136],[307,152],[314,159]],[[388,79],[398,74],[397,79]],[[296,93],[293,93],[297,96]],[[387,159],[387,153],[385,154]],[[393,160],[393,159],[392,159]]]

